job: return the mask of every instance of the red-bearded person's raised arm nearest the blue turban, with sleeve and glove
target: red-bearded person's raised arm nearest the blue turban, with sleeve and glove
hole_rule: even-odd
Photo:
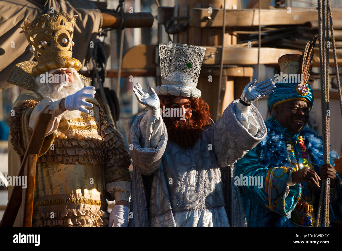
[[[266,137],[264,120],[252,103],[273,92],[271,79],[250,82],[211,129],[211,142],[220,167],[234,164]]]

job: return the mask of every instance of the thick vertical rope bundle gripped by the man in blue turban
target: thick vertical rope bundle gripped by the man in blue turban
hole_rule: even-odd
[[[329,0],[327,0],[329,1]],[[327,13],[330,9],[327,8]],[[325,25],[329,29],[329,21],[325,21],[325,4],[324,0],[318,0],[318,38],[319,38],[319,60],[320,60],[320,80],[321,80],[321,116],[322,116],[322,136],[323,136],[323,161],[324,164],[330,163],[329,153],[329,133],[330,124],[327,116],[327,109],[329,108],[329,50],[326,48],[326,41],[329,40],[325,33]],[[331,25],[332,26],[332,25]],[[329,32],[329,31],[327,31]],[[325,35],[325,36],[324,36]],[[323,219],[323,226],[329,226],[329,189],[327,180],[322,181],[322,187],[319,198],[319,206],[317,211],[316,227],[321,226]],[[323,209],[322,209],[323,207]]]

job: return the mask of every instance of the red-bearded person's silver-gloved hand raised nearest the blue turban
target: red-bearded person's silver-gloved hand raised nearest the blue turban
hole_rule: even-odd
[[[262,98],[273,92],[273,88],[276,87],[275,83],[272,79],[267,79],[260,83],[257,83],[257,80],[249,82],[246,85],[244,91],[240,99],[245,102],[247,105],[252,104],[254,101],[257,101],[259,98]]]

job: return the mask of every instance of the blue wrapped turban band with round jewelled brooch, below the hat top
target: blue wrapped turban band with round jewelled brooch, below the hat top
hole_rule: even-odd
[[[273,88],[273,93],[268,95],[269,109],[272,111],[278,104],[285,103],[290,100],[306,101],[310,111],[314,104],[314,95],[310,84],[300,85],[297,83],[276,83],[276,87]]]

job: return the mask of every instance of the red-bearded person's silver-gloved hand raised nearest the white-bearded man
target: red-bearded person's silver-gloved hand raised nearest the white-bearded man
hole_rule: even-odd
[[[148,90],[150,93],[146,92],[139,83],[133,86],[133,92],[139,101],[139,103],[145,105],[150,110],[157,110],[160,108],[160,101],[156,91],[149,86]]]

